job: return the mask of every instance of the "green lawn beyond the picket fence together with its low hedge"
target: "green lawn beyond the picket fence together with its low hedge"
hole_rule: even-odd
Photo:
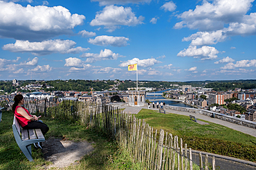
[[[136,117],[145,119],[154,129],[179,136],[192,149],[256,162],[256,138],[248,134],[210,122],[200,125],[189,116],[161,114],[150,109],[142,109]]]

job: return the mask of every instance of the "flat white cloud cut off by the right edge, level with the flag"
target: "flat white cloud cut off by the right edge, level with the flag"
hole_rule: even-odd
[[[256,60],[241,60],[237,61],[237,63],[228,63],[221,67],[223,70],[234,70],[237,67],[256,67]]]

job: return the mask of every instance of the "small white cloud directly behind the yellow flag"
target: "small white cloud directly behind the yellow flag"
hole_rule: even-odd
[[[151,67],[155,64],[162,63],[161,61],[157,61],[156,59],[143,59],[140,60],[138,58],[134,58],[128,61],[121,61],[122,63],[119,65],[120,67],[128,67],[128,65],[136,64],[138,62],[138,67]]]

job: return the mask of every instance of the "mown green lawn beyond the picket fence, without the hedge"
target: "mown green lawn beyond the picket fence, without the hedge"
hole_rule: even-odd
[[[146,123],[148,123],[149,126],[154,127],[154,129],[164,129],[173,136],[215,138],[253,146],[255,146],[256,143],[256,138],[253,136],[210,122],[208,122],[209,125],[200,125],[199,123],[190,120],[189,116],[161,114],[150,109],[142,109],[136,117],[145,119]],[[205,120],[201,121],[207,122]]]

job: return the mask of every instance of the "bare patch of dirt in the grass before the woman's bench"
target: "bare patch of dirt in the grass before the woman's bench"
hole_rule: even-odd
[[[48,138],[43,142],[43,150],[45,160],[53,162],[46,169],[51,167],[68,167],[71,164],[77,164],[84,155],[93,151],[93,147],[89,142],[74,142],[60,138]]]

